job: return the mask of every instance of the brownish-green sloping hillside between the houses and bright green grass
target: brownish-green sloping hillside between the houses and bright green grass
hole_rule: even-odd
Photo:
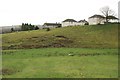
[[[2,34],[3,49],[117,48],[118,24],[86,25]]]

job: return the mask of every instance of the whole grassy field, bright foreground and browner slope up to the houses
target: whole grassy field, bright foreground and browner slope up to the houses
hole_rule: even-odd
[[[0,72],[3,78],[117,78],[118,33],[118,24],[106,24],[2,34]]]

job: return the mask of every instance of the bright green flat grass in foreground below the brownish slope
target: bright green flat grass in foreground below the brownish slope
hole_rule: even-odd
[[[3,78],[117,78],[117,53],[92,48],[4,50]]]

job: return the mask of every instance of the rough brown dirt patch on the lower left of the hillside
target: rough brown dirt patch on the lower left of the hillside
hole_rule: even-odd
[[[53,35],[52,37],[44,36],[40,39],[34,36],[32,38],[27,38],[22,44],[11,44],[3,49],[33,49],[33,48],[60,48],[69,47],[74,41],[70,38],[62,35]],[[48,39],[52,41],[48,41]]]

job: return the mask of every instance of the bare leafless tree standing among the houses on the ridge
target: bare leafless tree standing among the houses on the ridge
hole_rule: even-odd
[[[115,12],[111,10],[108,6],[101,8],[100,11],[105,16],[106,23],[108,23],[108,21],[110,20],[109,16],[115,16]]]

